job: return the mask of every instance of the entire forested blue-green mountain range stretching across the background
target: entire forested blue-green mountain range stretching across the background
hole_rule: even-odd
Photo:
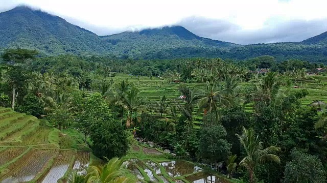
[[[64,19],[29,7],[0,13],[0,52],[8,47],[37,49],[43,55],[109,55],[131,59],[262,55],[327,62],[327,32],[299,43],[238,45],[199,37],[182,26],[165,26],[98,36]]]

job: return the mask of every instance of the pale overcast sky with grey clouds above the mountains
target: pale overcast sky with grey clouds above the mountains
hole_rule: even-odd
[[[0,0],[0,12],[19,4],[98,35],[182,25],[202,37],[252,44],[297,42],[327,31],[326,0]]]

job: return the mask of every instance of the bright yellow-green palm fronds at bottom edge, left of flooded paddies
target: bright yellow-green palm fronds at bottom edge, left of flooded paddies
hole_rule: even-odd
[[[107,159],[108,160],[108,159]],[[106,165],[90,166],[86,175],[87,182],[90,183],[135,183],[134,177],[127,177],[128,169],[124,160],[112,158]]]

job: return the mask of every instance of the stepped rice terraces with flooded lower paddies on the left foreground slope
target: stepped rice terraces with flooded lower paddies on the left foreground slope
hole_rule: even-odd
[[[67,149],[72,139],[48,121],[0,107],[0,128],[0,182],[55,183],[72,169],[85,173],[89,152]]]

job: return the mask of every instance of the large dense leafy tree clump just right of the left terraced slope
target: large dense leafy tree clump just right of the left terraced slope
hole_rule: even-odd
[[[122,157],[126,155],[128,134],[121,121],[113,119],[101,94],[92,95],[85,105],[83,133],[89,135],[91,148],[97,157]]]

